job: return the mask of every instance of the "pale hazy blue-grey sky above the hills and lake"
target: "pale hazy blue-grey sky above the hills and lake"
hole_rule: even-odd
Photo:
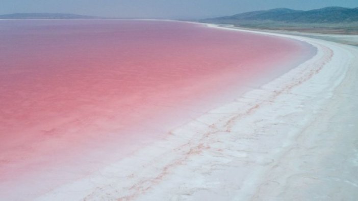
[[[205,18],[253,10],[358,7],[358,0],[0,0],[0,14],[74,13],[105,17]]]

